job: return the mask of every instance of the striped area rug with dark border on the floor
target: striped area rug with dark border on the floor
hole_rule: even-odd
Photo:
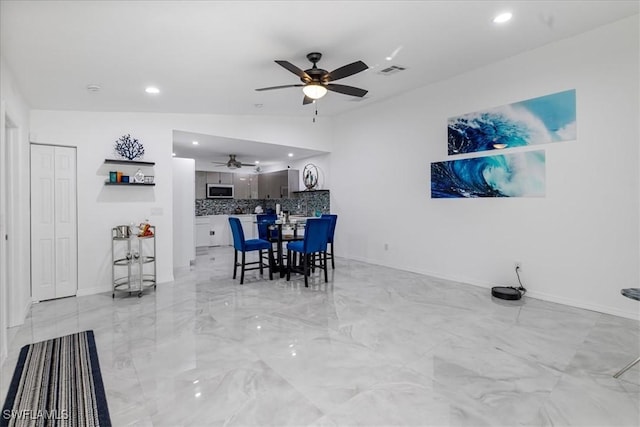
[[[110,426],[93,331],[24,346],[2,426]]]

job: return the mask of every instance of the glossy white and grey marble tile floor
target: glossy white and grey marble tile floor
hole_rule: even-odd
[[[231,248],[142,298],[43,302],[23,345],[93,329],[115,426],[638,426],[638,321],[336,259],[231,279]],[[613,291],[617,292],[617,289]]]

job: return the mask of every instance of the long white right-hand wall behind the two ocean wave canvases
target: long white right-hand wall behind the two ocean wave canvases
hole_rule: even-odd
[[[620,289],[639,286],[638,26],[625,19],[336,118],[339,255],[487,287],[517,284],[520,261],[532,297],[637,318]],[[545,198],[430,199],[448,117],[574,88],[578,139],[543,147]]]

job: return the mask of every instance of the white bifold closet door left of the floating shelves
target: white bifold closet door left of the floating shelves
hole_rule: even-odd
[[[35,301],[77,290],[75,148],[31,145],[31,292]]]

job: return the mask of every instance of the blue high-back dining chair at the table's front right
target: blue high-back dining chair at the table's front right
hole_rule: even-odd
[[[304,285],[309,287],[309,272],[312,268],[324,270],[324,281],[329,281],[327,276],[327,241],[331,220],[315,218],[307,220],[305,225],[304,240],[297,240],[287,244],[287,281],[291,279],[291,271],[304,274]],[[301,255],[302,267],[293,266],[294,252]],[[319,262],[316,262],[318,255]]]

